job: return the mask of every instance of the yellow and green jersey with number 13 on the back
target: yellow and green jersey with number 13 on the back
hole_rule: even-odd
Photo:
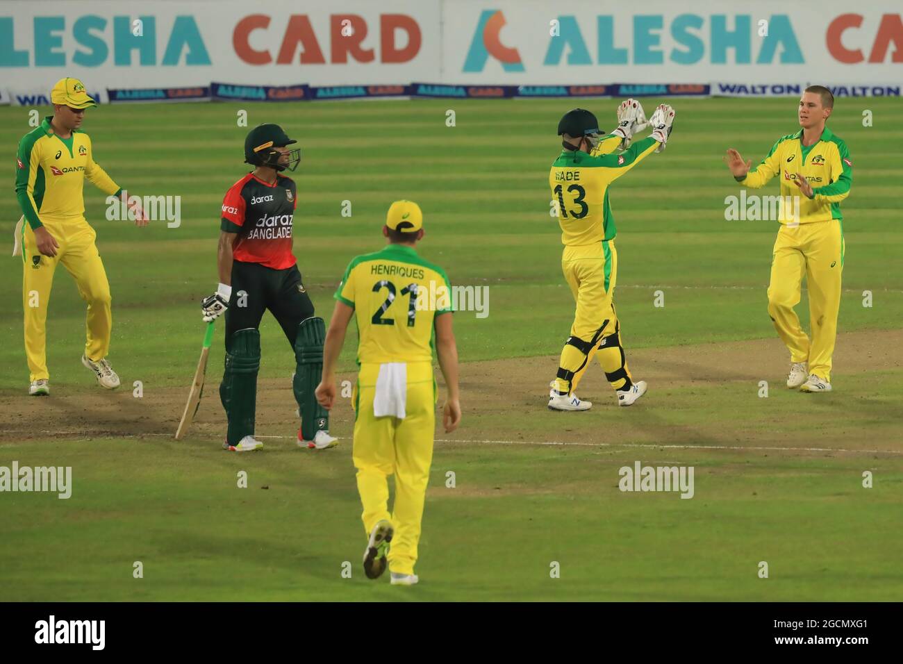
[[[562,228],[562,244],[591,245],[614,239],[617,234],[609,205],[609,185],[658,146],[649,136],[635,141],[620,154],[612,154],[620,140],[619,136],[605,136],[592,154],[563,150],[552,164],[549,186]]]

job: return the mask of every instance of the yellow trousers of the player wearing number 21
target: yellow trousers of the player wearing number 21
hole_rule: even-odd
[[[395,536],[389,547],[389,570],[414,574],[426,484],[433,463],[436,389],[432,362],[407,363],[405,418],[373,415],[378,363],[361,363],[352,395],[354,447],[358,492],[364,511],[364,530],[381,519],[392,522]],[[388,511],[388,476],[395,475],[396,498]]]

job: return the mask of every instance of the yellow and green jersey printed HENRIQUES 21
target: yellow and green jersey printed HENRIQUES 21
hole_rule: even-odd
[[[442,267],[396,244],[355,257],[335,298],[355,310],[358,364],[432,361],[433,319],[452,313]]]

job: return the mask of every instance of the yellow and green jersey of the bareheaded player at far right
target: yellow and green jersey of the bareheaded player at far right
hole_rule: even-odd
[[[824,127],[815,145],[802,144],[803,130],[777,139],[771,152],[746,177],[735,180],[744,187],[759,189],[775,175],[781,176],[781,196],[799,196],[799,223],[843,219],[841,201],[850,195],[852,160],[846,144]],[[812,184],[812,198],[801,195],[796,173]],[[782,219],[781,223],[793,221]]]

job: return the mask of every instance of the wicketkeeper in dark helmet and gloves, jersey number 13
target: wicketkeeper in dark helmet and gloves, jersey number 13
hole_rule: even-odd
[[[621,103],[618,127],[604,138],[600,138],[604,132],[600,132],[596,117],[582,108],[564,114],[558,123],[564,149],[552,164],[549,186],[562,229],[562,271],[577,308],[557,376],[549,386],[552,410],[592,407],[575,392],[593,355],[615,389],[619,406],[630,406],[646,393],[646,381],[634,381],[628,369],[612,301],[618,252],[609,185],[649,154],[665,149],[674,118],[674,108],[662,104],[648,123],[653,126],[652,136],[632,145],[634,131],[647,124],[643,108],[635,99]],[[627,150],[615,154],[618,147],[627,145]]]

